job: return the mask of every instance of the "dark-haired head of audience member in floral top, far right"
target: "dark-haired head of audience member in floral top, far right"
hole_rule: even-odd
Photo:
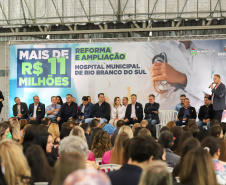
[[[213,158],[219,159],[220,157],[220,144],[217,138],[208,136],[203,139],[201,146],[206,150]]]

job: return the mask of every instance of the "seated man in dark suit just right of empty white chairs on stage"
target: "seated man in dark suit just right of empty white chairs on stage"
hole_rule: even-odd
[[[184,100],[184,107],[180,108],[178,119],[179,121],[176,122],[178,126],[186,125],[189,119],[196,119],[196,110],[194,107],[190,106],[190,100],[185,98]]]

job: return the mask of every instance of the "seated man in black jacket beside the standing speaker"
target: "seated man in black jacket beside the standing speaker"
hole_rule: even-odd
[[[201,130],[203,125],[207,125],[207,129],[210,128],[210,121],[213,119],[213,105],[210,104],[209,98],[204,98],[204,105],[199,109],[198,115],[198,127]]]

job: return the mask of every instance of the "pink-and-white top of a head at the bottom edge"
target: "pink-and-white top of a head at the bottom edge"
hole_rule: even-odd
[[[66,185],[111,185],[109,177],[95,169],[81,169],[72,172],[64,181]]]

